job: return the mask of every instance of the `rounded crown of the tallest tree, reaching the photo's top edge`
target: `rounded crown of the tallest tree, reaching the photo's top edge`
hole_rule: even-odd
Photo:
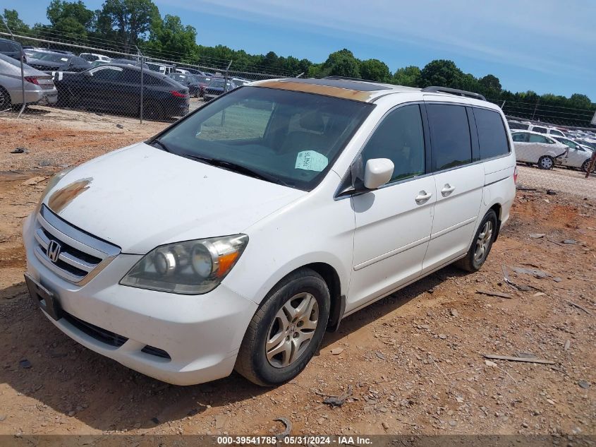
[[[128,47],[138,44],[157,18],[159,10],[151,0],[106,0],[97,21],[102,28],[115,30],[118,40]]]

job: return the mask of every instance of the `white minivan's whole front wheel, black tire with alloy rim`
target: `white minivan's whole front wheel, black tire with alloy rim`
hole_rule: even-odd
[[[286,276],[250,321],[234,369],[260,386],[277,386],[298,376],[319,348],[330,299],[327,283],[314,270],[303,268]]]

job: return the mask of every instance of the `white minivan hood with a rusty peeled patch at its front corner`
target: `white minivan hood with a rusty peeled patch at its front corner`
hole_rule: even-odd
[[[68,172],[43,203],[123,253],[145,254],[238,234],[305,194],[138,143]]]

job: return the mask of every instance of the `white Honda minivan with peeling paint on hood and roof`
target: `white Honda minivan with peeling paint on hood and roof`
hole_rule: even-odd
[[[143,374],[274,386],[345,316],[450,263],[478,270],[515,180],[480,95],[260,81],[51,179],[25,280],[57,328]]]

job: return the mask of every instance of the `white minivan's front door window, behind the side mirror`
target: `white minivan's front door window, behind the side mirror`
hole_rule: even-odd
[[[391,181],[424,174],[425,148],[420,106],[406,105],[390,112],[366,143],[362,157],[363,165],[372,158],[389,158],[394,164]]]

